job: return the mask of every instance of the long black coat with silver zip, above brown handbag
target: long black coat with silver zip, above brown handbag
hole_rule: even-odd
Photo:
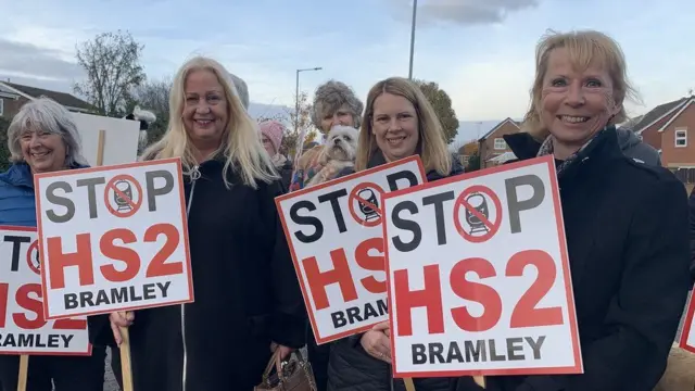
[[[251,391],[270,357],[270,342],[301,348],[306,313],[274,199],[279,180],[256,190],[207,161],[191,186],[188,231],[195,302],[137,311],[129,328],[136,391]],[[193,190],[194,189],[194,190]],[[185,317],[186,353],[181,319]],[[104,316],[92,339],[113,344]]]

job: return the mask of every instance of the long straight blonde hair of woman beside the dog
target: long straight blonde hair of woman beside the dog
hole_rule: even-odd
[[[420,155],[427,172],[437,171],[446,176],[452,171],[452,155],[446,150],[444,129],[420,88],[403,77],[390,77],[377,83],[367,94],[367,104],[359,129],[355,171],[367,168],[369,160],[375,153],[380,153],[377,139],[371,129],[374,117],[374,102],[382,93],[391,93],[407,99],[417,113],[419,140],[415,153]]]

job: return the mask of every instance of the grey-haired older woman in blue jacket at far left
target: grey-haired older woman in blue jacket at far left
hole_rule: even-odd
[[[77,127],[71,113],[41,98],[26,103],[8,129],[12,166],[0,174],[0,225],[36,227],[34,174],[83,168]],[[31,356],[27,391],[102,391],[104,346],[92,355]],[[0,383],[17,389],[18,356],[0,356]],[[54,386],[54,388],[53,388]]]

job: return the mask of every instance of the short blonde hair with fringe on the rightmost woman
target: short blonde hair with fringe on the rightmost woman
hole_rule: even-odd
[[[609,122],[619,124],[628,118],[624,108],[626,99],[637,101],[639,94],[630,84],[626,58],[618,42],[607,35],[595,30],[571,33],[549,31],[541,38],[535,48],[535,80],[531,88],[531,104],[523,117],[521,129],[534,138],[543,140],[548,136],[547,127],[541,121],[541,97],[543,79],[547,72],[551,53],[564,48],[569,53],[570,62],[583,71],[598,62],[608,68],[612,80],[612,99],[620,110]]]

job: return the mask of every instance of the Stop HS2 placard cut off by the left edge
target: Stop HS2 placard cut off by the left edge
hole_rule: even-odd
[[[87,318],[46,320],[36,228],[0,226],[0,354],[91,355]]]

